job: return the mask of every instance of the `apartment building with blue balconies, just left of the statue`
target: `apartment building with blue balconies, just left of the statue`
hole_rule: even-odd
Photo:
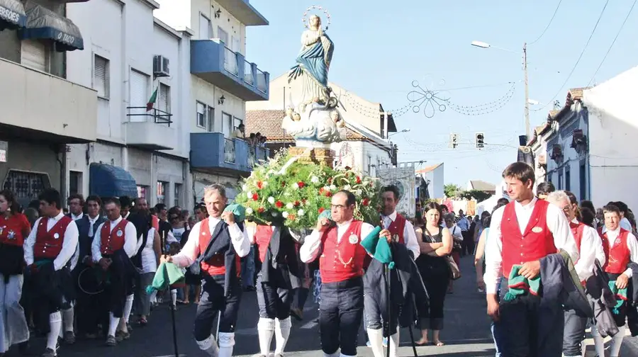
[[[248,0],[158,0],[155,16],[177,29],[192,29],[191,98],[185,123],[190,128],[190,171],[195,200],[211,183],[237,182],[267,150],[233,138],[245,120],[247,101],[267,101],[269,73],[245,57],[246,27],[268,21]]]

